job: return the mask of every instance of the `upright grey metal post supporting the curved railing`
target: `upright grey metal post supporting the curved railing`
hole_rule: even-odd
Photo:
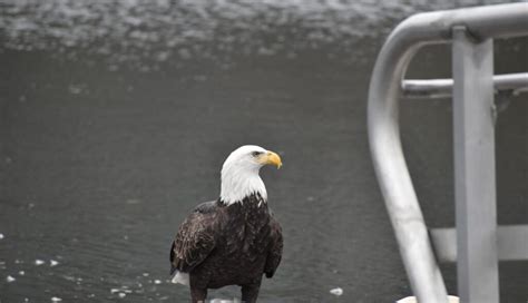
[[[493,43],[453,27],[453,137],[461,302],[499,302]]]

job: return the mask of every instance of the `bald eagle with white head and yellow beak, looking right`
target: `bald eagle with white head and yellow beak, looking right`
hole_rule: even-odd
[[[258,176],[264,165],[282,166],[277,154],[260,146],[235,149],[222,167],[217,201],[198,205],[182,223],[170,248],[174,283],[190,286],[192,302],[208,289],[242,286],[242,301],[256,302],[262,277],[281,263],[282,228],[267,206]]]

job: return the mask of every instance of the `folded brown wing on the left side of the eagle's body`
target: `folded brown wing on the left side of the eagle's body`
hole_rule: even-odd
[[[182,223],[170,247],[170,274],[188,273],[215,247],[216,202],[198,205]]]

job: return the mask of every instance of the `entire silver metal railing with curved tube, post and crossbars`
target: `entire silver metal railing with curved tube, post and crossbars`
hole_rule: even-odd
[[[459,296],[471,303],[499,302],[499,256],[528,258],[528,247],[519,244],[528,243],[528,227],[503,226],[498,233],[496,214],[493,85],[519,91],[528,88],[528,80],[527,74],[493,77],[492,39],[518,36],[528,36],[528,2],[419,13],[392,31],[378,56],[369,88],[369,143],[420,303],[447,302],[437,255],[457,260]],[[434,43],[452,43],[453,79],[403,80],[417,51]],[[433,229],[432,242],[400,140],[398,108],[403,95],[453,96],[457,229]]]

